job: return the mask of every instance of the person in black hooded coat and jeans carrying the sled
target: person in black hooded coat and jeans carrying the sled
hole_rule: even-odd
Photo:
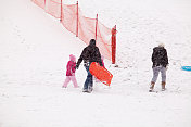
[[[92,75],[89,72],[89,66],[92,62],[97,62],[101,66],[103,66],[102,65],[102,60],[101,60],[101,54],[100,54],[99,48],[96,46],[96,40],[94,39],[91,39],[90,42],[89,42],[89,46],[87,46],[82,50],[82,52],[81,52],[81,54],[80,54],[80,56],[77,61],[76,68],[79,67],[79,65],[82,61],[84,61],[84,66],[87,71],[87,73],[88,73],[82,91],[84,92],[91,92],[92,87],[93,87],[93,80],[92,80]]]

